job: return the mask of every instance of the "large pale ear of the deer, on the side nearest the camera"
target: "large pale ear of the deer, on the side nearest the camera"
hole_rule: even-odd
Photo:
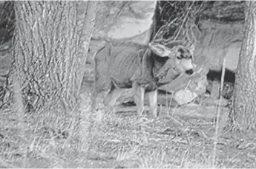
[[[149,43],[148,44],[149,49],[151,49],[154,54],[160,56],[160,57],[170,57],[171,51],[167,47],[163,46],[163,44],[158,43]]]

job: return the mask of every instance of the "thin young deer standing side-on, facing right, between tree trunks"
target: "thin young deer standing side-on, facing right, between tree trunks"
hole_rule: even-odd
[[[137,114],[145,110],[144,98],[148,94],[149,107],[153,117],[157,117],[157,87],[168,72],[169,81],[181,74],[194,73],[194,58],[186,46],[169,48],[160,43],[107,44],[94,56],[95,89],[94,92],[109,91],[105,99],[106,106],[114,106],[122,89],[133,89]]]

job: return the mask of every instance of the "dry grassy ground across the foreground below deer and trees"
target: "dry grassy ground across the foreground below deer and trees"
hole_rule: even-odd
[[[214,123],[167,112],[157,119],[105,107],[91,114],[92,85],[85,85],[73,125],[50,125],[53,114],[25,114],[20,123],[18,113],[1,110],[0,167],[256,168],[253,133],[229,131],[216,139]]]

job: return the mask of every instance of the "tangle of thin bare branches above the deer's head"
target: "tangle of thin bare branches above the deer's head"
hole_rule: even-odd
[[[191,46],[200,38],[200,30],[195,20],[200,12],[206,7],[207,2],[197,4],[194,1],[168,1],[160,7],[160,13],[169,15],[161,21],[161,26],[154,35],[152,41],[170,46]]]

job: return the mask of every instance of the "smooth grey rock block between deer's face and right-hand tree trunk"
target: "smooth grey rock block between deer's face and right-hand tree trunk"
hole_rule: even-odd
[[[243,23],[200,21],[199,25],[202,35],[195,49],[197,60],[219,71],[226,58],[226,69],[234,72],[243,41]]]

